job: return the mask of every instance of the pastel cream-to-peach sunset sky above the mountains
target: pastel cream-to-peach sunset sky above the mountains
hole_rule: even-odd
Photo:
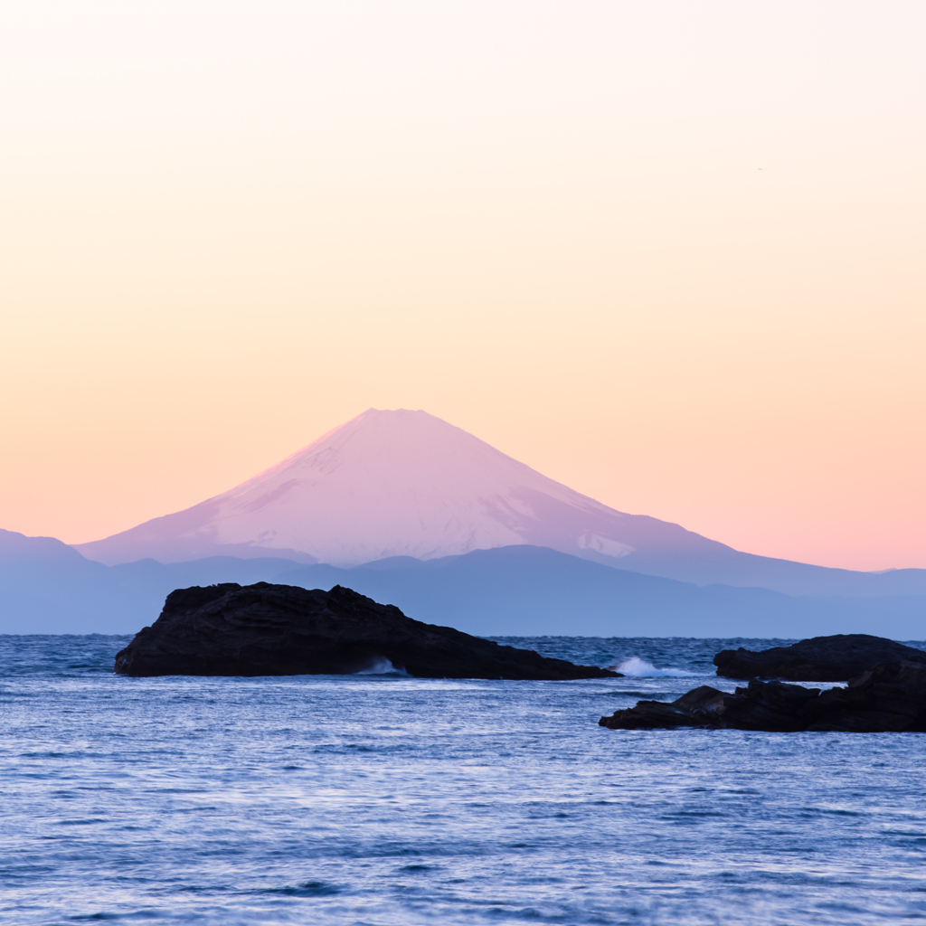
[[[0,527],[424,408],[740,549],[926,567],[921,0],[5,0]]]

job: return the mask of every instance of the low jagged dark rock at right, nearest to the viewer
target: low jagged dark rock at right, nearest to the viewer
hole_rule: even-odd
[[[753,679],[726,694],[701,685],[671,704],[639,701],[598,721],[611,730],[720,727],[735,730],[926,732],[926,663],[882,662],[846,688],[805,688]]]

